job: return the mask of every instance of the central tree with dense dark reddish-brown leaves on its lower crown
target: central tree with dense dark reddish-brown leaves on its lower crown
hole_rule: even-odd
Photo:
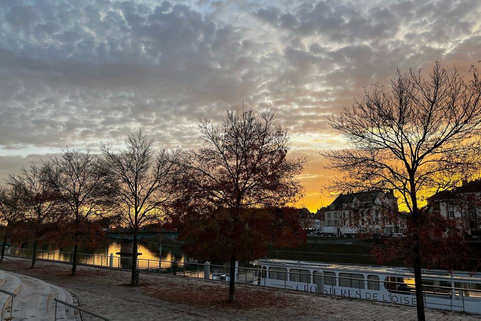
[[[303,188],[296,176],[306,159],[287,158],[289,134],[270,111],[260,116],[252,110],[227,111],[219,127],[205,119],[199,128],[203,146],[182,156],[181,234],[196,241],[193,254],[230,261],[232,302],[235,261],[259,257],[268,241],[299,230],[298,216],[293,221],[272,209],[300,197]]]

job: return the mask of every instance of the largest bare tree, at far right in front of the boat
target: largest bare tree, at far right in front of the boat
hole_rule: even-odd
[[[332,189],[393,189],[407,207],[411,227],[422,225],[422,198],[456,186],[476,173],[481,152],[481,82],[475,68],[465,81],[435,62],[425,79],[421,70],[375,85],[362,101],[329,122],[350,148],[323,153],[343,175]],[[411,230],[417,315],[424,320],[418,231]]]

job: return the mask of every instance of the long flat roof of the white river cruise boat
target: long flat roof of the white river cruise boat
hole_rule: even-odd
[[[293,268],[328,268],[336,270],[346,271],[359,271],[359,272],[377,272],[396,275],[409,275],[413,276],[414,271],[407,267],[392,267],[382,265],[356,265],[356,264],[340,264],[340,263],[325,263],[325,262],[311,262],[311,261],[294,261],[294,260],[282,260],[282,259],[260,259],[253,261],[255,265],[281,265]],[[422,270],[422,275],[426,277],[440,277],[449,279],[465,279],[481,281],[480,273],[470,273],[467,271],[453,271],[453,276],[446,270]]]

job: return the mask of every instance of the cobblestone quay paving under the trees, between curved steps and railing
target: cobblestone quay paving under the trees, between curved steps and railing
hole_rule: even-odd
[[[257,302],[255,307],[242,309],[179,304],[168,300],[169,293],[175,293],[179,291],[179,288],[188,287],[202,290],[203,287],[215,283],[219,290],[225,291],[228,285],[223,282],[209,282],[180,276],[141,274],[141,283],[148,284],[149,289],[155,291],[158,288],[159,291],[165,291],[161,294],[166,300],[160,300],[146,293],[142,286],[125,286],[125,283],[130,280],[129,271],[78,266],[78,275],[70,277],[71,266],[68,264],[38,261],[38,266],[30,269],[28,268],[29,260],[10,258],[21,266],[20,273],[70,290],[78,296],[84,308],[103,314],[111,320],[416,320],[416,309],[411,306],[389,305],[280,289],[267,289],[267,291],[274,291],[276,297],[286,302],[287,307],[279,307],[279,305],[273,307],[270,304],[263,304],[262,300]],[[17,269],[16,271],[18,271],[19,265],[7,263],[3,264],[2,269]],[[239,289],[243,287],[249,287],[249,291],[259,290],[249,285],[238,286]],[[150,293],[152,294],[152,292]],[[94,318],[85,315],[85,319],[93,320]],[[479,321],[481,315],[426,309],[426,319]]]

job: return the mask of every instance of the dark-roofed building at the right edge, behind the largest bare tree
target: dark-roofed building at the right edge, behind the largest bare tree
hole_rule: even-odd
[[[450,219],[459,219],[467,235],[481,236],[481,180],[463,181],[452,190],[438,192],[427,199],[433,213]]]

